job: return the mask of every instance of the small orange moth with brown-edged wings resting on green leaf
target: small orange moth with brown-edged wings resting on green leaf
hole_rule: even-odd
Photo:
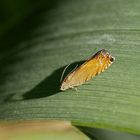
[[[107,69],[115,60],[106,50],[98,51],[81,66],[70,72],[62,81],[60,90],[64,91],[84,84]]]

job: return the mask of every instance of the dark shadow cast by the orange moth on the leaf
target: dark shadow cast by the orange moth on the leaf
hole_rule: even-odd
[[[70,73],[78,64],[81,65],[84,61],[79,61],[72,63],[65,71],[63,78]],[[60,79],[62,72],[66,66],[61,67],[57,70],[55,70],[49,77],[44,79],[42,82],[40,82],[36,87],[34,87],[31,91],[25,93],[23,95],[23,100],[27,99],[34,99],[34,98],[43,98],[47,96],[51,96],[53,94],[56,94],[60,92]]]

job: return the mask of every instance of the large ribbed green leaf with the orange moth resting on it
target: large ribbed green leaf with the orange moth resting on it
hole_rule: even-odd
[[[1,38],[0,119],[59,119],[140,134],[140,2],[54,3]],[[64,67],[108,50],[114,64],[61,92]]]

